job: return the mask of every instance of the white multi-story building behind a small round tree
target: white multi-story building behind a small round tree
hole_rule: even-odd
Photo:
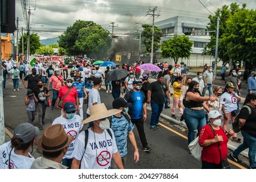
[[[157,26],[163,32],[163,38],[161,42],[169,40],[174,34],[189,36],[189,40],[193,42],[193,47],[191,50],[191,56],[189,59],[178,60],[180,62],[185,62],[187,66],[203,66],[204,64],[211,65],[214,61],[214,57],[210,55],[202,55],[202,50],[205,45],[210,42],[210,36],[206,35],[206,25],[208,23],[207,19],[190,18],[183,16],[176,16],[173,18],[164,19],[162,21],[155,22]],[[165,62],[168,64],[174,64],[172,59],[163,59],[161,57],[161,49],[157,50],[155,53],[155,62]]]

